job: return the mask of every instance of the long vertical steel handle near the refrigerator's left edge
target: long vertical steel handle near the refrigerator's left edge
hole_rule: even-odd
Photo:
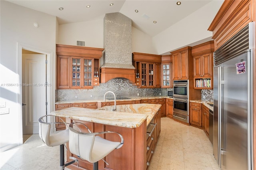
[[[222,67],[218,67],[218,165],[221,168],[221,130],[222,130]]]

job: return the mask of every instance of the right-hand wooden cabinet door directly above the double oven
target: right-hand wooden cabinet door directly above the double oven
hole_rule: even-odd
[[[188,50],[184,50],[180,52],[180,79],[187,80],[188,79]]]

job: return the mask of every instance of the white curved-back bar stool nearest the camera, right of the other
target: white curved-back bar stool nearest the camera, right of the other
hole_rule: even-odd
[[[69,150],[72,154],[93,163],[93,170],[98,170],[98,161],[103,160],[114,149],[121,148],[124,144],[123,136],[118,132],[94,132],[82,124],[89,133],[81,132],[76,124],[82,124],[79,122],[71,123],[69,125]],[[75,130],[78,129],[78,130]],[[121,142],[113,142],[106,140],[98,134],[116,133],[119,135]],[[105,162],[105,160],[103,160]]]

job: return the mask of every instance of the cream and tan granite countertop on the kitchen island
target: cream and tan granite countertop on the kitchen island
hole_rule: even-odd
[[[113,108],[112,106],[110,107]],[[157,104],[118,105],[118,111],[108,111],[108,108],[86,109],[70,107],[53,111],[51,114],[105,125],[136,128],[140,127],[145,120],[148,125],[160,107],[161,105]]]

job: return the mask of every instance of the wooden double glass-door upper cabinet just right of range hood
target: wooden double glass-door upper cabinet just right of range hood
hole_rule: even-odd
[[[158,88],[160,83],[161,55],[132,53],[132,63],[136,69],[135,83],[139,88]]]

